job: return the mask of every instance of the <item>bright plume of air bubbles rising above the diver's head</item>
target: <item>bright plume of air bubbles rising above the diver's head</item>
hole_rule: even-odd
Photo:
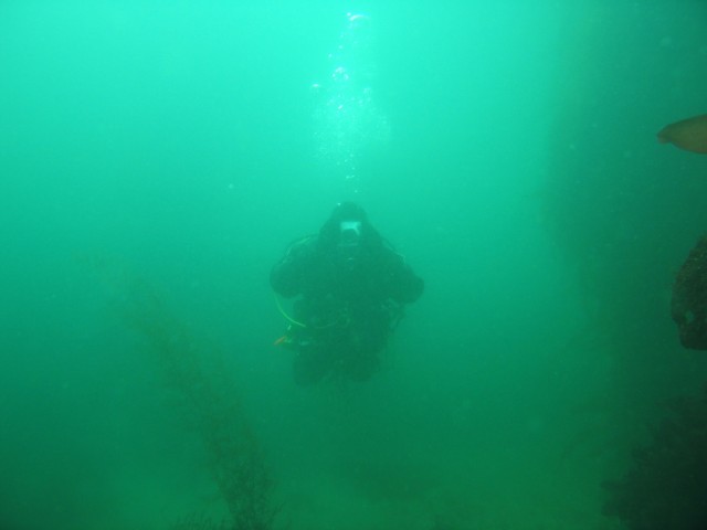
[[[346,26],[328,60],[328,77],[312,86],[317,158],[333,178],[342,180],[347,194],[357,194],[361,157],[390,137],[388,119],[373,99],[377,72],[369,17],[347,13]]]

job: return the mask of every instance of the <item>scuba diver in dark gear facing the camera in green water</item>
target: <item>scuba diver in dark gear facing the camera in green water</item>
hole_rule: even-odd
[[[424,288],[404,258],[351,203],[338,204],[317,235],[292,243],[273,267],[271,285],[295,298],[285,335],[295,351],[294,377],[314,384],[325,377],[369,379],[404,304]]]

